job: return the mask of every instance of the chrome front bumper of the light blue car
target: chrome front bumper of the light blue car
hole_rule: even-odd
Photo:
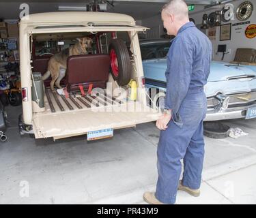
[[[227,108],[226,110],[217,110],[214,108],[208,108],[204,121],[219,121],[228,119],[245,118],[248,108],[256,107],[256,104],[250,106]]]

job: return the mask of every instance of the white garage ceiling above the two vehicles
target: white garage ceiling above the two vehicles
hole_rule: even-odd
[[[110,0],[111,1],[111,0]],[[113,1],[114,7],[108,5],[107,12],[117,12],[129,14],[136,20],[150,18],[159,14],[162,5],[168,0],[119,0]],[[210,4],[216,0],[186,0],[187,3]],[[90,0],[16,0],[16,1],[0,1],[0,18],[11,19],[18,18],[21,3],[29,5],[30,14],[40,12],[58,11],[59,5],[62,6],[85,6]],[[197,7],[197,6],[196,6]]]

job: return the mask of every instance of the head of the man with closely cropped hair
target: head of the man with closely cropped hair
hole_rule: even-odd
[[[171,0],[162,7],[162,22],[168,35],[177,35],[188,18],[188,6],[183,0]]]

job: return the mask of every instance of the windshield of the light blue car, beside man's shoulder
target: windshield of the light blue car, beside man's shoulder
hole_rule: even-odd
[[[171,42],[141,45],[141,58],[142,60],[165,58],[170,46]]]

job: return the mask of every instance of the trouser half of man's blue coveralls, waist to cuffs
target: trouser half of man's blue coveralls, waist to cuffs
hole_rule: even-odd
[[[184,159],[184,185],[197,188],[201,183],[203,167],[203,118],[206,111],[204,93],[187,95],[180,107],[182,127],[171,120],[160,132],[158,143],[158,181],[156,198],[165,204],[174,204]],[[186,157],[185,157],[186,156]]]

